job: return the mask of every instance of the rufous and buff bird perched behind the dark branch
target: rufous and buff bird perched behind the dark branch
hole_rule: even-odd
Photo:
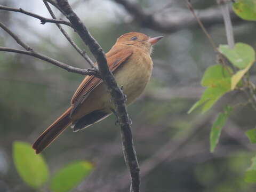
[[[117,38],[106,53],[109,70],[126,95],[126,105],[131,104],[145,90],[153,70],[150,54],[153,45],[162,38],[150,38],[138,32],[126,33]],[[97,62],[94,65],[97,66]],[[113,114],[113,109],[107,86],[97,76],[86,76],[75,91],[70,107],[39,135],[33,149],[39,154],[68,126],[71,125],[74,132],[82,130]]]

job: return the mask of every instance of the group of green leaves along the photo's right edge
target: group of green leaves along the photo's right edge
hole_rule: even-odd
[[[233,3],[233,10],[238,17],[256,21],[256,0],[238,0]],[[255,91],[254,84],[250,81],[249,70],[255,63],[255,51],[252,46],[245,43],[236,43],[234,47],[219,45],[218,52],[230,62],[231,67],[225,62],[217,63],[205,70],[201,85],[206,87],[201,98],[189,109],[202,107],[202,113],[208,111],[224,94],[234,90],[244,90],[250,86]],[[225,125],[234,107],[226,105],[223,113],[215,119],[210,133],[210,151],[213,153],[219,142],[222,127]],[[251,143],[256,143],[256,130],[246,132]],[[256,157],[252,158],[252,165],[245,173],[245,181],[256,183]]]

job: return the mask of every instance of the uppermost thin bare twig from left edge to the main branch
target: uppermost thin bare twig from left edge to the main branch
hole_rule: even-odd
[[[45,24],[46,22],[50,22],[50,23],[59,23],[59,24],[63,24],[63,25],[67,25],[69,27],[72,27],[71,23],[68,22],[68,21],[44,18],[44,17],[42,17],[38,14],[25,11],[21,8],[20,9],[15,9],[15,8],[12,8],[12,7],[7,7],[7,6],[0,5],[0,10],[19,12],[19,13],[29,15],[30,17],[34,17],[36,19],[39,19],[41,21],[41,24]]]

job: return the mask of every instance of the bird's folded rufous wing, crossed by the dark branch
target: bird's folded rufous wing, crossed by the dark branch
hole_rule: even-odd
[[[106,54],[109,70],[111,72],[115,71],[119,66],[121,66],[125,61],[131,57],[133,51],[132,49],[119,49],[109,51]],[[102,83],[102,80],[95,76],[86,76],[83,82],[77,88],[73,98],[71,99],[71,105],[73,105],[73,109],[70,113],[70,116],[74,113],[81,103],[87,98],[87,96]]]

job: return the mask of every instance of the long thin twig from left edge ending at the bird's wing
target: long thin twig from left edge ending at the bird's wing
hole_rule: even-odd
[[[50,58],[46,55],[43,55],[41,53],[37,53],[35,51],[23,51],[23,50],[8,48],[8,47],[0,47],[0,51],[30,55],[30,56],[33,56],[35,58],[41,59],[43,61],[47,61],[49,63],[52,63],[53,65],[58,66],[62,69],[66,69],[69,72],[73,72],[73,73],[77,73],[77,74],[81,74],[81,75],[96,75],[97,74],[97,71],[95,71],[95,69],[80,69],[80,68],[72,67],[72,66],[69,66],[69,65],[67,65],[63,62],[52,59],[52,58]]]

